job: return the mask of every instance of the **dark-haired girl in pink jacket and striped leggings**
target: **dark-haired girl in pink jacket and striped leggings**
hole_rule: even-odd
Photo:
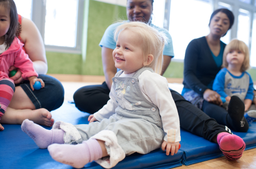
[[[9,78],[8,70],[11,66],[20,69],[22,77],[30,81],[32,90],[36,81],[41,82],[42,88],[45,86],[44,81],[37,78],[38,74],[34,70],[33,62],[22,49],[24,44],[16,38],[17,20],[18,14],[13,0],[2,0],[0,2],[0,120],[15,91],[14,81]],[[0,124],[1,130],[4,130],[4,127]]]

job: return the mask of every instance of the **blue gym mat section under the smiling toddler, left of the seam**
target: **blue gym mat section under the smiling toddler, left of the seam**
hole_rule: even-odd
[[[51,111],[55,121],[71,124],[88,124],[89,114],[79,111],[74,104],[64,102],[57,110]],[[70,165],[53,160],[47,149],[39,149],[34,141],[22,131],[20,125],[5,125],[0,132],[0,168],[72,168]],[[45,126],[44,126],[45,127]],[[51,129],[50,127],[45,127]],[[183,151],[179,150],[174,156],[166,156],[158,149],[142,155],[134,153],[125,157],[113,168],[173,168],[181,166]],[[90,162],[84,168],[103,168],[96,162]]]

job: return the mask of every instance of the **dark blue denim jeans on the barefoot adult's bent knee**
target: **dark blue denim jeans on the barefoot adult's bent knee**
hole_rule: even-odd
[[[59,108],[64,101],[64,89],[60,81],[49,75],[39,75],[45,82],[45,88],[32,91],[29,81],[25,80],[15,86],[20,86],[35,105],[35,108],[46,108],[48,111]]]

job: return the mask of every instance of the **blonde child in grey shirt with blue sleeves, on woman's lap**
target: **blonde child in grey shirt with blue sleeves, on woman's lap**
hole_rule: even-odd
[[[244,101],[245,118],[248,123],[256,119],[253,100],[253,81],[246,70],[250,67],[249,50],[243,41],[234,39],[224,49],[223,69],[216,75],[212,89],[225,98],[223,104],[227,108],[230,98],[238,96]]]

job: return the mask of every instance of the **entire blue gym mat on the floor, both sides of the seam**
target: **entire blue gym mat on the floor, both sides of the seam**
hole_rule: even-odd
[[[74,104],[64,102],[51,112],[55,121],[72,124],[88,124],[89,114],[79,111]],[[33,140],[22,131],[20,125],[3,125],[0,132],[0,168],[72,168],[51,158],[47,149],[39,149]],[[51,129],[50,127],[45,127]],[[256,122],[250,125],[247,133],[233,132],[242,137],[246,150],[256,147]],[[158,149],[141,155],[126,156],[114,168],[174,168],[182,164],[190,165],[223,156],[218,144],[181,129],[181,149],[174,156],[166,156]],[[102,168],[96,162],[88,163],[84,168]]]

